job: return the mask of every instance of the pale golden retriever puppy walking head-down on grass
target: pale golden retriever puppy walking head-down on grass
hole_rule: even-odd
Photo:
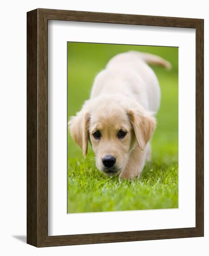
[[[96,76],[90,99],[69,121],[73,140],[84,155],[90,141],[97,168],[107,176],[139,177],[150,160],[160,87],[148,64],[170,68],[152,54],[130,51],[113,57]]]

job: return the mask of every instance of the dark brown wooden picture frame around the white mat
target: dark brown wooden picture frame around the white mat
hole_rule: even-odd
[[[48,236],[47,22],[70,20],[196,29],[196,227]],[[27,13],[27,243],[36,247],[203,236],[203,20],[36,9]]]

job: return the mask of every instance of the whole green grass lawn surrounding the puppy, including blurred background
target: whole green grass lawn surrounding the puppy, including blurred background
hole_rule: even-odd
[[[95,167],[89,145],[86,158],[68,134],[68,212],[98,212],[178,207],[178,48],[68,43],[68,116],[89,98],[95,75],[112,56],[139,50],[162,56],[172,70],[152,67],[162,100],[152,139],[152,160],[141,178],[108,178]]]

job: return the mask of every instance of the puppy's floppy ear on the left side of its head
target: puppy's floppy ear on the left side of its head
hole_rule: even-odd
[[[81,110],[76,116],[72,116],[68,122],[71,136],[83,150],[84,156],[87,155],[88,152],[89,120],[89,113]]]

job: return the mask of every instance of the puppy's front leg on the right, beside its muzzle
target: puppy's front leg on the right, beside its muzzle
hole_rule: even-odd
[[[138,146],[131,151],[129,156],[129,160],[124,168],[124,170],[120,173],[119,177],[122,179],[131,179],[134,177],[140,177],[140,173],[144,168],[146,155],[147,155],[147,146],[143,151],[140,150]]]

